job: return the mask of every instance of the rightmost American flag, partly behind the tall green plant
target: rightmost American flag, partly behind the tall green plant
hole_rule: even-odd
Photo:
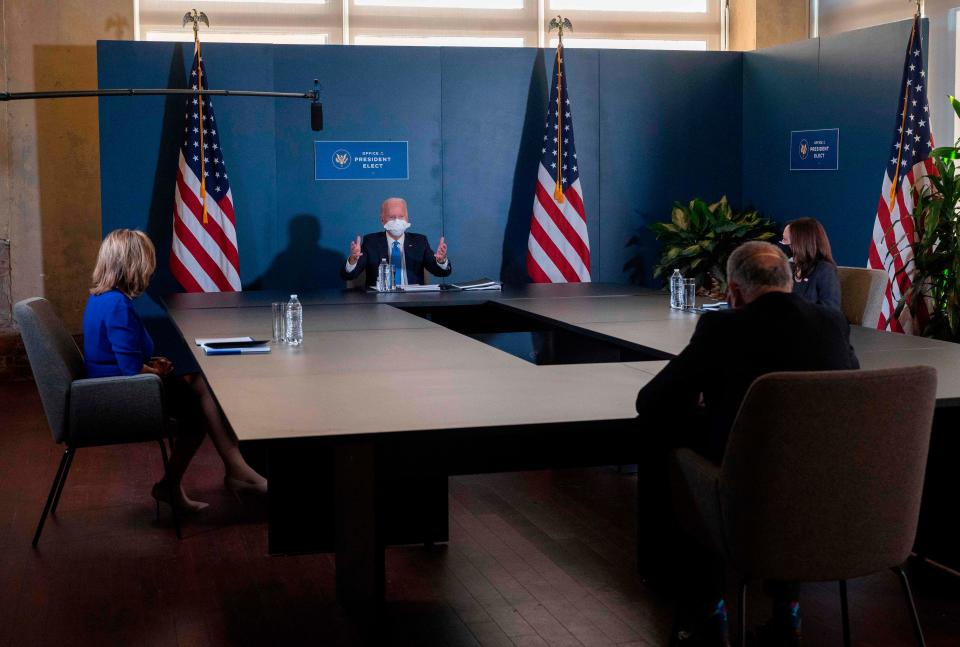
[[[930,106],[927,103],[927,79],[923,69],[923,43],[920,17],[913,21],[910,42],[903,64],[899,108],[893,131],[890,159],[883,176],[883,189],[873,224],[869,265],[887,272],[887,288],[877,328],[907,334],[919,333],[927,318],[921,300],[920,312],[904,307],[895,310],[913,280],[913,249],[917,242],[913,205],[917,195],[928,190],[928,176],[936,174],[930,159],[933,135],[930,132]]]

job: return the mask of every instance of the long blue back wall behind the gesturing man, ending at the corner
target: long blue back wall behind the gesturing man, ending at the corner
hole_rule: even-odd
[[[215,88],[303,91],[323,84],[326,129],[307,102],[214,101],[238,219],[245,286],[339,287],[349,241],[407,198],[414,230],[446,237],[454,277],[526,280],[525,250],[552,52],[536,49],[209,44]],[[186,87],[192,45],[104,41],[100,87]],[[626,281],[631,234],[674,200],[740,201],[742,56],[567,53],[594,280]],[[708,98],[709,100],[705,100]],[[169,253],[183,99],[102,99],[103,230],[146,229],[154,288],[175,290]],[[408,140],[406,181],[315,181],[313,141]],[[704,142],[709,142],[704,146]]]

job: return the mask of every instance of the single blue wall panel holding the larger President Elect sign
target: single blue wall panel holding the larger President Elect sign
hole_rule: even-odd
[[[313,132],[307,102],[277,102],[276,150],[271,156],[276,159],[272,215],[279,248],[263,287],[342,287],[338,272],[350,241],[380,229],[380,203],[390,196],[407,200],[412,231],[426,234],[435,246],[443,217],[440,51],[283,46],[274,52],[278,89],[302,90],[313,78],[321,80],[326,123],[322,132]],[[316,139],[408,141],[410,178],[314,180]],[[309,240],[314,227],[315,243]],[[305,232],[311,235],[304,237]]]

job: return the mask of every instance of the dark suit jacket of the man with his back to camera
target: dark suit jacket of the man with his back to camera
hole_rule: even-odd
[[[683,352],[640,390],[637,412],[644,426],[660,427],[654,433],[695,436],[677,444],[691,444],[719,462],[756,378],[774,371],[859,367],[850,325],[839,310],[771,292],[737,310],[703,314]]]

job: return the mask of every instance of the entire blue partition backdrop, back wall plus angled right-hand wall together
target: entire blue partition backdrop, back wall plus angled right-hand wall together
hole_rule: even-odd
[[[671,204],[726,194],[779,222],[812,215],[837,260],[862,265],[890,144],[901,22],[747,54],[569,50],[567,72],[594,280],[625,282]],[[446,237],[453,278],[526,280],[525,250],[552,51],[205,46],[211,87],[304,91],[307,102],[218,98],[245,287],[340,287],[349,241],[400,195],[416,231]],[[98,43],[100,87],[187,87],[192,45]],[[166,268],[183,99],[101,99],[103,230],[146,229]],[[838,171],[789,171],[789,133],[840,129]],[[405,181],[315,181],[313,141],[407,140]],[[640,244],[627,248],[631,235]]]

